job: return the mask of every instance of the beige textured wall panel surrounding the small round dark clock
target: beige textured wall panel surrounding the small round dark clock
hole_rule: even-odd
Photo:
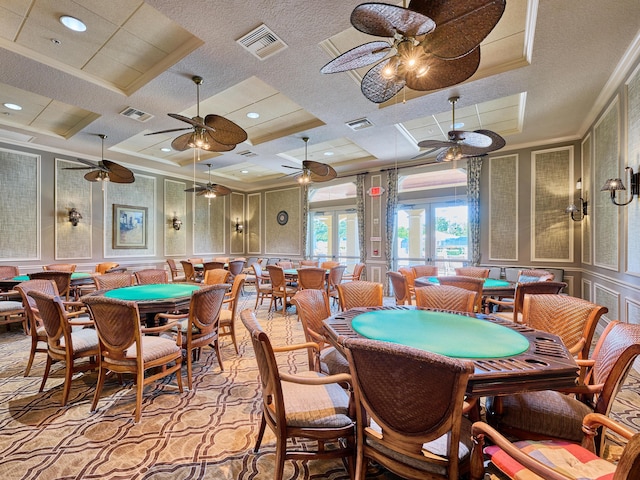
[[[268,255],[302,255],[301,194],[299,187],[272,190],[265,193],[264,228],[265,253]],[[279,225],[278,212],[289,215],[286,225]]]

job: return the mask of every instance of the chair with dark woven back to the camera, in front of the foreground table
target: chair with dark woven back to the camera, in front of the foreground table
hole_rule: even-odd
[[[345,338],[356,410],[356,474],[372,460],[402,478],[458,479],[469,470],[463,416],[471,361],[366,338]]]

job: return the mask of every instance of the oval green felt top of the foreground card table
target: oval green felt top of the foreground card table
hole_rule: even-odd
[[[529,340],[510,328],[445,312],[379,310],[358,315],[351,327],[373,340],[455,358],[510,357],[529,348]]]

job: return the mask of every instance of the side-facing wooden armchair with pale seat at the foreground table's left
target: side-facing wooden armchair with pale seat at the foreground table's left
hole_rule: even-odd
[[[325,376],[318,372],[292,375],[278,370],[276,352],[307,348],[308,344],[274,347],[251,310],[240,317],[251,337],[262,387],[262,418],[253,449],[258,453],[267,425],[276,436],[274,478],[281,480],[285,460],[346,459],[353,466],[354,421],[349,416],[349,395],[339,382],[351,377],[342,373]],[[318,442],[316,450],[295,448],[288,439]],[[335,448],[325,448],[325,443]],[[351,471],[352,468],[350,469]]]

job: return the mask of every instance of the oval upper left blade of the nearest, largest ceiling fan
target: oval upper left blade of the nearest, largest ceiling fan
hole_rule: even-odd
[[[351,25],[376,37],[393,37],[396,32],[416,37],[436,28],[436,23],[428,16],[386,3],[358,5],[351,12]]]

